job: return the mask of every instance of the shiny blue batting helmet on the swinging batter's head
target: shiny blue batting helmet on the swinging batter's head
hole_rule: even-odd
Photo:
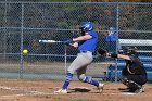
[[[83,22],[80,24],[80,29],[85,31],[90,31],[90,30],[93,30],[93,25],[90,22]]]

